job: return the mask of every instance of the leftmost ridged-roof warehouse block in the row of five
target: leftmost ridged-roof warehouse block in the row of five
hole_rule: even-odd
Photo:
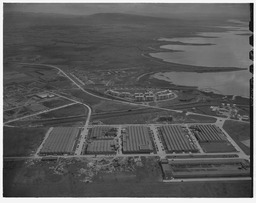
[[[46,139],[40,151],[41,155],[74,154],[76,140],[80,134],[79,128],[56,127]]]

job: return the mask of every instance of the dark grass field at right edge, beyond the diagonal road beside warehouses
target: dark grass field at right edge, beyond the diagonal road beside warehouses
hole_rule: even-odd
[[[242,141],[246,140],[251,141],[250,123],[227,120],[223,125],[223,129],[247,155],[250,155],[250,147],[242,143]]]

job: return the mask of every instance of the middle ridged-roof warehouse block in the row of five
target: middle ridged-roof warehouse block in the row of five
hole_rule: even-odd
[[[153,152],[149,128],[145,126],[129,126],[123,133],[123,153]]]

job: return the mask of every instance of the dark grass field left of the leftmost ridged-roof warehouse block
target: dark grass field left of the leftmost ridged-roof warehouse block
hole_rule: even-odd
[[[47,128],[9,128],[3,131],[3,155],[28,156],[41,144]]]

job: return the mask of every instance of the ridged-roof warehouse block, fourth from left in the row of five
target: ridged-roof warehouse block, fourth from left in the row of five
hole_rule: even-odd
[[[195,144],[179,125],[161,126],[158,128],[165,149],[169,153],[198,152]]]

